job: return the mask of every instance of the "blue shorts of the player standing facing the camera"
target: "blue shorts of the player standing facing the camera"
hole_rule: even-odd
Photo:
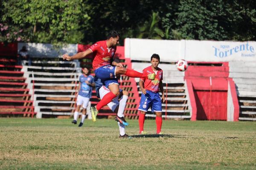
[[[162,102],[160,94],[152,91],[146,91],[146,94],[141,94],[139,111],[147,112],[151,107],[151,112],[162,112]]]

